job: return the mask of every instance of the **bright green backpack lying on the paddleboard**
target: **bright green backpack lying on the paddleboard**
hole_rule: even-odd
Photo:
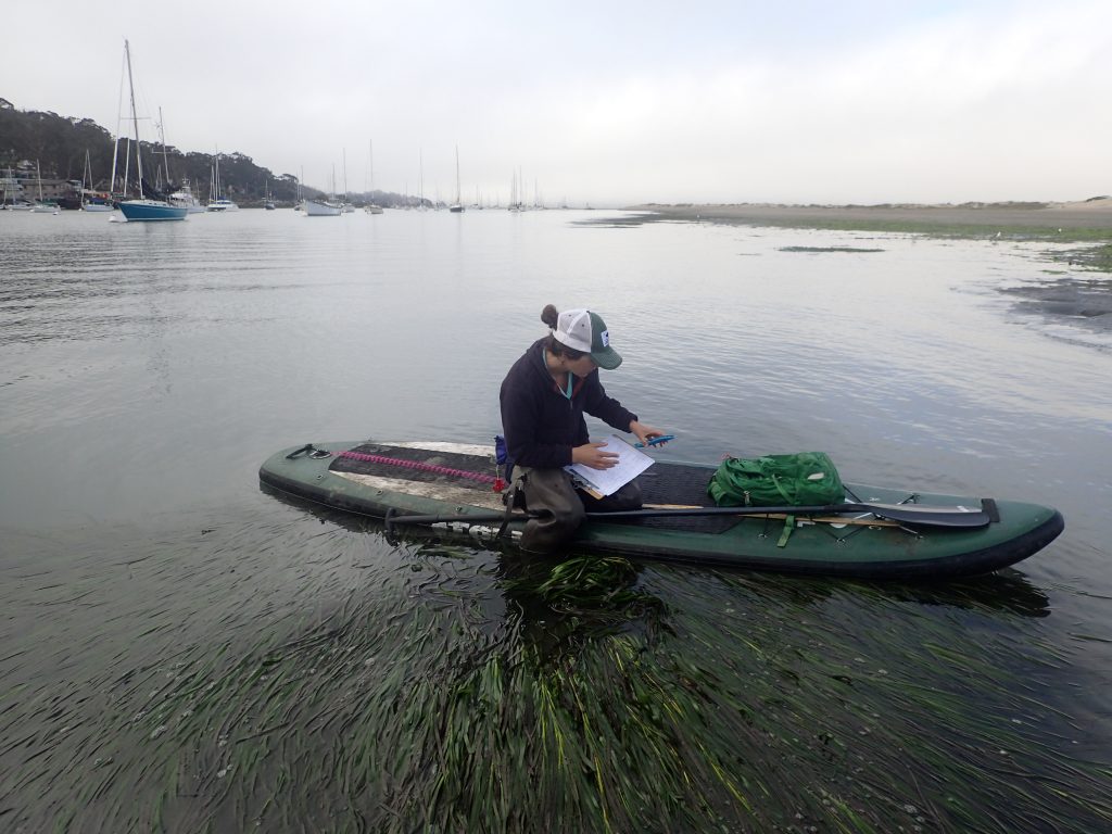
[[[824,451],[727,457],[706,492],[719,507],[825,506],[845,498],[842,478]]]

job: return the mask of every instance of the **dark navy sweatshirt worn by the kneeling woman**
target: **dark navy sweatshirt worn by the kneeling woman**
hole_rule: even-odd
[[[576,378],[568,399],[545,364],[548,339],[533,342],[514,363],[502,383],[502,430],[509,456],[519,466],[555,469],[572,463],[572,449],[589,437],[583,413],[597,417],[622,431],[637,415],[606,396],[595,369],[585,379]]]

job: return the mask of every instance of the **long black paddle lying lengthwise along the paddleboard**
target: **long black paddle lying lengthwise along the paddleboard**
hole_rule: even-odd
[[[394,524],[445,524],[448,522],[502,522],[505,513],[473,513],[470,515],[414,515],[397,516],[391,509],[386,514],[387,526]],[[686,516],[764,516],[787,514],[794,516],[835,515],[837,513],[872,513],[901,524],[922,527],[986,527],[992,516],[982,509],[964,507],[935,507],[926,504],[827,504],[808,507],[695,507],[682,509],[627,509],[617,513],[587,513],[587,518],[605,522],[617,518],[673,518]],[[528,518],[513,515],[510,518]]]

